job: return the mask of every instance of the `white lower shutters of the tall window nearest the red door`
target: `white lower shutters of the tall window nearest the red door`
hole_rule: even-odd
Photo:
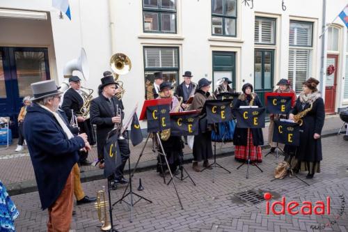
[[[296,93],[302,91],[302,83],[308,79],[309,50],[290,49],[289,79]]]

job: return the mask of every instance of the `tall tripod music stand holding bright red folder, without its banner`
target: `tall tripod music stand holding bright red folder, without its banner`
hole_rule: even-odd
[[[146,111],[147,111],[148,107],[155,106],[155,105],[169,105],[170,103],[171,103],[171,98],[168,98],[168,99],[145,100],[144,105],[143,105],[143,109],[141,110],[141,116],[140,116],[139,120],[146,120]],[[169,114],[169,112],[168,112],[168,114]],[[130,177],[132,178],[134,176],[134,173],[136,172],[136,169],[137,169],[137,167],[139,165],[141,157],[143,156],[145,147],[148,144],[148,140],[150,139],[151,134],[154,134],[155,137],[153,139],[157,139],[157,141],[158,141],[158,143],[160,145],[161,152],[157,151],[157,153],[159,153],[159,155],[163,155],[164,156],[164,160],[166,160],[166,166],[167,166],[168,171],[169,171],[169,173],[171,175],[171,178],[173,179],[173,173],[171,172],[171,169],[169,167],[168,160],[166,158],[166,153],[164,152],[164,148],[163,148],[163,145],[161,143],[161,139],[159,137],[159,131],[148,134],[148,137],[145,140],[145,144],[143,145],[143,148],[141,148],[141,153],[139,154],[138,160],[136,160],[136,164],[134,166],[134,169],[133,169],[132,173],[130,174]],[[130,170],[129,170],[129,173],[130,173]],[[164,176],[164,183],[166,183],[165,176]],[[125,192],[127,191],[128,186],[129,186],[129,183],[128,183],[126,189],[125,189]],[[175,185],[174,180],[173,180],[173,186],[174,186],[174,189],[175,189],[175,193],[177,195],[177,199],[179,200],[180,206],[181,206],[181,208],[183,210],[184,207],[182,206],[182,202],[181,202],[180,196],[177,193],[177,189],[176,189],[176,185]],[[124,195],[125,195],[125,192],[124,192]],[[136,194],[136,195],[138,195],[138,194]],[[123,196],[122,196],[122,198],[124,198]],[[145,199],[145,198],[142,198],[142,199]],[[148,199],[145,199],[145,200],[152,203],[152,201],[150,201]]]

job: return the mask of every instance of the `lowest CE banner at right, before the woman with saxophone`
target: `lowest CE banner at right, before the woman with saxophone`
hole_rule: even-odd
[[[299,146],[299,124],[285,121],[274,121],[273,141],[275,143]]]

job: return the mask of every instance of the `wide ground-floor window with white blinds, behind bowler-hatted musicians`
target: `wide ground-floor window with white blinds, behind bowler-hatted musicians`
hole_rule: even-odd
[[[179,47],[144,47],[145,93],[154,82],[154,72],[163,72],[164,82],[177,86]]]

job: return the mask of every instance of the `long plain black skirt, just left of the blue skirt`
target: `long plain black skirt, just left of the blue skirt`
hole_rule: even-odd
[[[197,134],[193,140],[193,160],[202,161],[207,160],[213,156],[212,149],[212,132]]]

